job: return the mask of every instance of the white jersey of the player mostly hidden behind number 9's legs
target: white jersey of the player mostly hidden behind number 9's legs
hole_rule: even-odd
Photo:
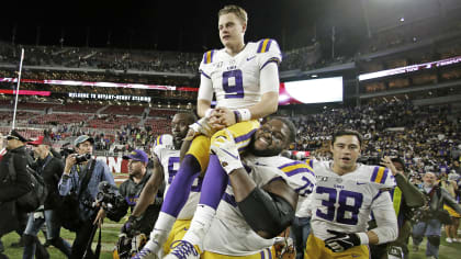
[[[172,145],[157,145],[154,147],[154,154],[158,157],[164,168],[166,183],[164,196],[167,195],[170,184],[178,172],[180,166],[179,153],[180,150],[173,149]],[[188,201],[179,213],[178,219],[192,219],[193,214],[195,213],[196,204],[199,203],[202,180],[202,178],[196,178],[194,180]]]

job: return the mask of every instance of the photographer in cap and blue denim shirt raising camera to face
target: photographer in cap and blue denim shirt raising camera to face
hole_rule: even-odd
[[[72,244],[70,258],[81,259],[88,240],[91,238],[93,219],[97,211],[92,203],[98,194],[98,185],[106,181],[115,185],[114,178],[105,162],[91,158],[93,151],[93,138],[82,135],[76,138],[74,146],[77,154],[66,158],[63,177],[58,184],[60,195],[76,192],[79,204],[79,225],[76,229],[76,238]],[[90,257],[93,257],[90,252]]]

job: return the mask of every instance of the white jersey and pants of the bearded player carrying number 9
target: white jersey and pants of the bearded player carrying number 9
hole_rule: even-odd
[[[283,179],[300,194],[300,198],[307,196],[314,189],[315,177],[305,162],[293,161],[281,156],[247,156],[244,159],[244,164],[250,178],[259,188],[273,180]],[[274,238],[265,239],[250,228],[237,207],[233,188],[228,184],[223,202],[220,203],[216,216],[204,239],[204,252],[201,255],[201,258],[273,258],[273,244]]]

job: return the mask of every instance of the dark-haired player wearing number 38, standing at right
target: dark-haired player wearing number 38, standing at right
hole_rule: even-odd
[[[339,131],[331,137],[333,161],[308,161],[315,171],[312,199],[312,233],[305,259],[369,258],[369,244],[397,237],[397,219],[387,191],[395,179],[387,168],[357,162],[362,136]],[[368,230],[373,211],[378,227]]]

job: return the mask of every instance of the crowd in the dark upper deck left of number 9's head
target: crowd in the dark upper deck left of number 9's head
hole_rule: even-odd
[[[24,48],[24,65],[113,70],[164,71],[195,74],[201,54],[113,48],[80,48],[59,46],[12,46],[0,44],[0,63],[16,63]]]

